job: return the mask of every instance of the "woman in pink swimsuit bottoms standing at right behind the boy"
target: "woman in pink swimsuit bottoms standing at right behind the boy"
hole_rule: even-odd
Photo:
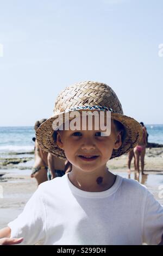
[[[143,130],[143,137],[141,141],[139,141],[137,146],[134,148],[137,174],[140,173],[139,161],[141,161],[141,173],[145,174],[144,167],[145,167],[145,154],[146,154],[146,145],[147,145],[147,131],[145,129],[145,126],[142,126],[142,130]]]

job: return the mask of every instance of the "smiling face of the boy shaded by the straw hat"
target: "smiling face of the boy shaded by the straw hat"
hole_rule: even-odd
[[[64,149],[65,155],[77,169],[91,172],[103,167],[111,157],[112,150],[121,147],[121,135],[111,120],[110,136],[101,136],[101,130],[59,131],[57,144]]]

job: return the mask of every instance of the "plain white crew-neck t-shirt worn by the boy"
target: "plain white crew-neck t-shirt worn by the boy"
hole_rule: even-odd
[[[24,245],[156,245],[163,208],[135,180],[117,175],[109,190],[86,192],[65,174],[42,183],[8,226]]]

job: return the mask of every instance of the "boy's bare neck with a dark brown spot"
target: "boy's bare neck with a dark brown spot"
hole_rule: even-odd
[[[108,190],[114,185],[116,175],[110,173],[107,167],[103,168],[101,172],[95,170],[93,174],[72,167],[72,171],[68,173],[68,178],[80,190],[100,192]]]

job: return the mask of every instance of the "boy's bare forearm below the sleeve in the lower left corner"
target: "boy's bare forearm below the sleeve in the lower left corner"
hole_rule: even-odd
[[[0,245],[16,245],[17,243],[21,243],[23,238],[10,238],[11,229],[9,227],[3,228],[0,230]]]

